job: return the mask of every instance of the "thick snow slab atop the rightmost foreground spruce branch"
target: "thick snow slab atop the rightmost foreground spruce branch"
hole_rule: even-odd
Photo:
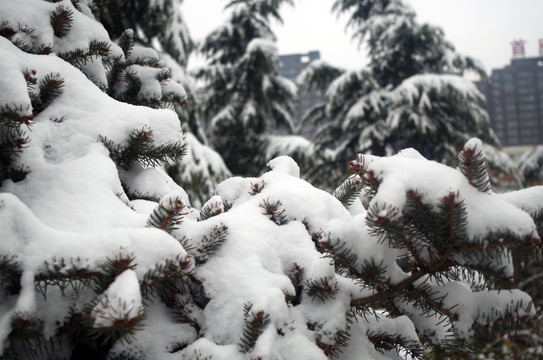
[[[414,151],[410,150],[408,156],[400,153],[389,158],[358,156],[358,165],[367,165],[384,179],[370,206],[379,203],[401,209],[405,203],[405,193],[410,189],[425,194],[426,201],[431,202],[450,193],[458,193],[459,200],[464,200],[466,204],[471,220],[467,229],[470,238],[483,237],[490,229],[509,229],[520,238],[537,237],[533,220],[526,212],[499,196],[477,191],[456,169],[414,157]]]

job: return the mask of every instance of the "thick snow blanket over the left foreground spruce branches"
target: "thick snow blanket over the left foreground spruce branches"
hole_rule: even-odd
[[[16,6],[16,2],[7,3]],[[36,6],[53,6],[53,9],[58,5],[35,3]],[[71,6],[71,3],[65,1],[63,6]],[[0,13],[4,16],[8,12]],[[23,13],[32,16],[32,12]],[[49,22],[49,18],[46,21]],[[94,34],[96,23],[93,24],[85,34]],[[49,24],[44,29],[48,27]],[[11,316],[16,311],[35,311],[40,319],[47,320],[45,336],[53,336],[54,324],[65,321],[71,306],[65,299],[75,297],[73,289],[65,290],[69,293],[64,296],[58,288],[50,286],[48,288],[54,289],[49,289],[48,301],[35,290],[36,284],[40,284],[37,277],[46,277],[50,269],[60,269],[58,271],[67,274],[74,270],[93,272],[99,271],[108,259],[134,256],[137,266],[132,275],[127,273],[130,278],[119,280],[119,288],[112,285],[111,296],[112,301],[117,301],[113,299],[118,299],[117,295],[132,294],[127,300],[137,309],[141,303],[137,296],[140,293],[138,281],[142,281],[148,271],[167,261],[184,258],[187,253],[179,241],[164,231],[146,228],[149,214],[134,211],[124,186],[130,184],[157,198],[171,191],[184,193],[183,190],[160,169],[146,169],[138,164],[120,174],[101,142],[107,138],[123,145],[132,130],[145,128],[153,132],[157,146],[182,144],[183,133],[177,115],[170,110],[118,102],[60,58],[25,53],[4,37],[0,37],[0,53],[6,55],[2,56],[0,67],[2,89],[14,91],[8,94],[0,90],[2,104],[7,102],[20,107],[25,113],[32,111],[28,89],[27,95],[23,94],[27,88],[24,76],[27,71],[38,83],[47,75],[57,73],[64,81],[62,94],[33,118],[31,131],[26,132],[28,146],[16,159],[16,164],[28,167],[30,173],[24,181],[8,179],[2,183],[0,254],[15,256],[23,272],[18,298],[1,295],[0,343],[3,348]],[[124,184],[119,177],[123,174],[126,176]],[[185,200],[188,204],[186,197]],[[88,294],[81,296],[85,298]]]

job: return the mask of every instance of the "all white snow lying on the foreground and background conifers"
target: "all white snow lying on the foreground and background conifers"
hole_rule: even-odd
[[[36,26],[50,28],[47,17],[23,11],[27,8],[19,4],[10,0],[1,3],[0,17],[12,21],[8,15],[21,10],[25,14],[21,15],[24,23],[35,20]],[[36,13],[47,13],[59,3],[28,0],[24,4],[35,5]],[[60,4],[73,9],[70,1]],[[392,2],[391,6],[398,4]],[[9,11],[4,11],[8,8]],[[243,7],[237,9],[243,11]],[[44,30],[37,41],[50,41],[58,47],[57,51],[87,46],[91,38],[110,41],[103,28],[90,17],[79,12],[75,16],[78,25],[74,25],[70,36],[58,39]],[[262,39],[253,40],[248,50],[276,51],[271,42]],[[417,331],[428,336],[434,331],[432,340],[436,341],[450,335],[444,326],[436,327],[440,317],[425,318],[399,299],[395,299],[398,308],[409,316],[391,318],[380,312],[380,320],[359,317],[352,323],[349,321],[347,314],[352,300],[373,296],[378,290],[347,278],[346,274],[338,274],[332,259],[319,252],[316,245],[344,246],[357,257],[360,266],[365,261],[382,264],[386,268],[383,276],[389,284],[399,284],[412,275],[398,265],[398,258],[405,254],[371,233],[362,201],[357,200],[351,209],[346,209],[334,196],[300,179],[300,168],[292,158],[279,156],[268,162],[270,170],[259,177],[231,177],[218,184],[203,206],[214,216],[199,218],[199,212],[190,207],[187,193],[161,167],[135,164],[128,170],[120,169],[100,140],[107,137],[123,145],[133,129],[149,128],[157,145],[171,142],[189,145],[188,169],[209,175],[206,178],[212,173],[229,175],[219,154],[199,143],[192,134],[183,139],[179,119],[173,111],[111,99],[93,83],[104,80],[100,77],[104,68],[99,62],[83,68],[91,81],[55,54],[28,54],[4,37],[0,37],[0,56],[3,59],[0,104],[21,107],[21,114],[28,115],[31,110],[24,78],[27,70],[34,70],[33,76],[38,80],[58,72],[65,81],[62,95],[36,114],[31,131],[27,132],[30,143],[15,160],[15,165],[28,166],[31,172],[23,181],[4,180],[1,184],[0,254],[16,257],[21,289],[14,295],[0,292],[0,352],[7,344],[10,319],[16,312],[36,315],[44,322],[44,336],[49,338],[56,334],[72,308],[88,311],[96,329],[142,318],[143,328],[133,334],[133,343],[116,342],[108,354],[111,358],[130,353],[135,358],[156,359],[325,360],[316,340],[333,344],[339,332],[350,328],[351,341],[343,349],[342,359],[381,360],[397,355],[377,352],[368,339],[369,331],[399,333],[413,341],[419,339]],[[157,55],[135,48],[132,56]],[[180,91],[179,84],[159,84],[156,69],[134,65],[133,70],[144,80],[141,95],[146,98],[165,90]],[[364,86],[374,86],[364,73],[357,72],[335,82],[335,91],[345,90],[350,81],[366,81]],[[472,94],[473,90],[456,78],[423,76],[404,82],[402,91],[406,99],[415,101],[414,97],[421,95],[417,88],[421,82],[436,88],[453,84],[462,94]],[[287,88],[288,84],[282,86]],[[420,103],[412,104],[430,106],[427,97],[419,97]],[[364,101],[353,107],[350,117],[360,117],[367,106],[380,104],[377,95]],[[245,115],[254,115],[255,104],[245,104]],[[214,121],[231,120],[233,113],[232,108],[226,107]],[[302,138],[272,136],[269,140],[269,157],[279,151],[314,155],[314,149]],[[476,140],[468,145],[481,146]],[[535,225],[526,211],[540,209],[541,187],[503,195],[481,193],[458,170],[428,161],[414,149],[388,158],[359,155],[355,164],[366,166],[381,181],[368,204],[377,208],[381,216],[399,218],[406,191],[410,189],[423,193],[433,204],[443,196],[458,194],[467,208],[468,234],[473,241],[498,231],[512,231],[519,237],[537,240]],[[149,226],[151,212],[159,203],[168,204],[170,199],[181,199],[186,205],[177,228],[168,233]],[[280,219],[270,214],[269,208],[273,206]],[[206,255],[202,249],[204,237],[217,227],[224,229],[224,242],[214,249],[214,254]],[[198,265],[194,261],[196,255],[202,255]],[[62,289],[40,280],[53,268],[64,275],[74,270],[104,271],[108,259],[120,257],[133,257],[133,267],[115,274],[111,283],[104,285],[105,290],[91,287],[78,290],[70,286]],[[191,273],[190,281],[201,284],[206,297],[203,305],[188,305],[201,326],[199,330],[176,321],[174,310],[160,297],[142,299],[141,283],[146,275],[180,259],[189,261],[186,271]],[[506,265],[509,268],[505,274],[510,274],[511,264]],[[290,278],[293,269],[301,269],[299,284]],[[309,294],[307,288],[312,281],[322,279],[326,279],[332,290],[321,299]],[[463,337],[470,334],[475,319],[496,320],[500,313],[517,303],[523,304],[517,318],[535,313],[526,307],[529,296],[519,290],[497,292],[475,290],[462,282],[432,283],[425,278],[419,281],[426,280],[439,294],[447,295],[443,300],[446,307],[458,305],[459,320],[454,330]],[[305,288],[301,293],[297,293],[299,285]],[[193,294],[187,291],[175,296],[175,300],[182,301],[192,299]],[[289,300],[292,297],[296,303]],[[252,305],[252,312],[269,315],[270,323],[254,348],[241,354],[243,313],[248,304]]]

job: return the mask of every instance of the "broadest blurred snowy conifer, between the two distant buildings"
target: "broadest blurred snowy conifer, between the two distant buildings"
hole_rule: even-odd
[[[498,140],[484,97],[460,76],[483,71],[473,59],[457,54],[441,29],[419,24],[401,0],[338,0],[334,9],[349,15],[348,26],[357,41],[367,44],[370,64],[367,70],[343,72],[323,82],[338,69],[319,63],[302,77],[327,86],[325,103],[308,120],[318,126],[317,147],[332,150],[323,160],[330,164],[328,171],[342,168],[350,153],[392,155],[405,147],[453,164],[472,136],[487,144],[489,154],[496,153],[490,148]],[[493,167],[506,170],[505,165]]]

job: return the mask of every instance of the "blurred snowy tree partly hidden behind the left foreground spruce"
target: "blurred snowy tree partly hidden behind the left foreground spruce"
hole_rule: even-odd
[[[168,174],[191,195],[194,206],[201,206],[213,188],[230,175],[221,156],[208,147],[202,127],[201,104],[195,79],[187,63],[195,44],[181,13],[182,0],[130,0],[94,2],[93,12],[112,38],[133,29],[134,42],[151,47],[161,63],[170,69],[172,80],[183,84],[186,102],[174,107],[186,134],[184,162],[166,164]]]

